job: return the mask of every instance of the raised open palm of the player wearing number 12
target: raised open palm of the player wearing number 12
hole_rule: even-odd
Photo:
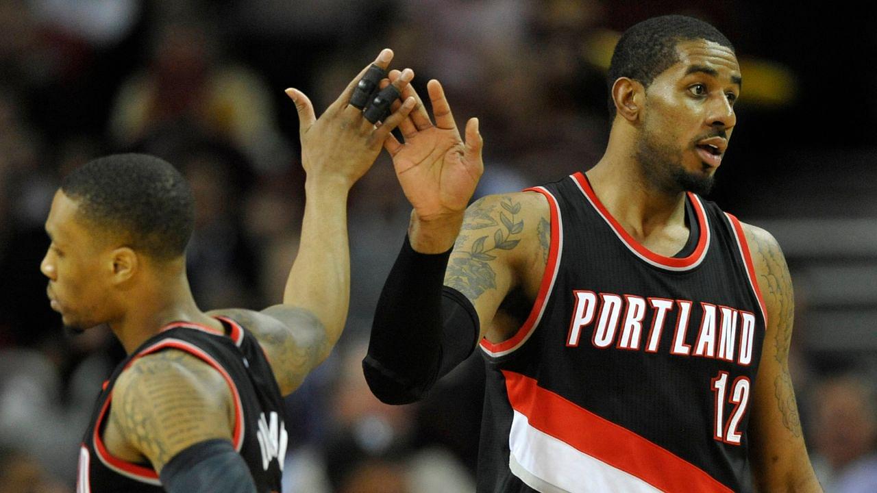
[[[394,70],[390,72],[389,80],[395,81],[402,76],[403,73]],[[385,140],[384,147],[393,157],[396,176],[405,196],[414,206],[417,221],[451,223],[459,229],[463,212],[484,171],[478,118],[468,120],[464,142],[460,139],[441,83],[431,80],[426,89],[435,124],[417,93],[407,86],[403,90],[403,97],[406,97],[406,101],[414,98],[417,107],[399,124],[404,144],[391,134]],[[453,237],[456,237],[456,232],[453,232]]]

